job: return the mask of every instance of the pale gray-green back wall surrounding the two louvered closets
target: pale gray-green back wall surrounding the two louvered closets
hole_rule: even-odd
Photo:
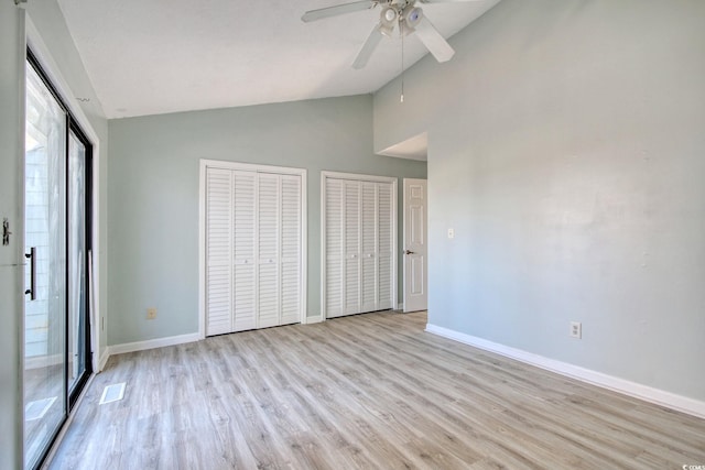
[[[321,171],[426,175],[425,162],[372,153],[371,117],[371,96],[357,96],[109,121],[109,343],[198,330],[199,159],[307,170],[307,313],[318,315]]]

